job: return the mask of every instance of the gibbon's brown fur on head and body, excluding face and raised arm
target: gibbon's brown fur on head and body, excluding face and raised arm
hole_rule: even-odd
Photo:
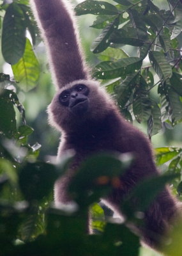
[[[54,196],[57,205],[66,204],[71,198],[67,188],[79,164],[94,152],[114,151],[130,152],[135,156],[135,162],[121,178],[122,188],[114,189],[103,202],[118,212],[119,205],[130,190],[145,177],[158,175],[153,161],[153,152],[148,138],[120,115],[118,108],[96,81],[81,81],[89,88],[89,110],[82,116],[74,116],[67,107],[59,103],[57,92],[49,106],[49,116],[53,125],[58,125],[62,131],[58,159],[66,150],[75,150],[75,160],[70,170],[57,180]],[[75,81],[66,86],[70,88]],[[160,238],[170,227],[171,220],[176,214],[177,205],[167,188],[158,195],[148,211],[144,213],[146,226],[139,228],[143,240],[150,246],[156,246]]]

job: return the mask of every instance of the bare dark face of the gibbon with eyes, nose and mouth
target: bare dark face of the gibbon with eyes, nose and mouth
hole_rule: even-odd
[[[84,84],[75,84],[72,88],[64,90],[59,95],[59,102],[66,106],[72,113],[82,114],[89,107],[89,88]]]

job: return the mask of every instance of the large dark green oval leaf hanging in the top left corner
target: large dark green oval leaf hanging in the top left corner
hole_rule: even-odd
[[[4,60],[11,65],[17,63],[26,46],[26,23],[19,4],[11,3],[4,16],[2,52]]]

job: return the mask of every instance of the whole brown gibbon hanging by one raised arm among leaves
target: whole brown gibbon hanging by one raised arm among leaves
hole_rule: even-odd
[[[68,185],[87,156],[104,151],[130,152],[135,161],[122,176],[121,188],[113,189],[104,198],[105,204],[121,215],[119,204],[135,184],[144,177],[159,175],[150,142],[142,132],[126,122],[100,83],[91,79],[68,0],[31,0],[31,7],[42,32],[57,88],[48,108],[51,124],[62,134],[57,158],[66,150],[75,151],[72,166],[56,181],[55,203],[70,202]],[[178,202],[169,189],[164,188],[144,212],[145,226],[140,228],[141,239],[156,247],[158,237],[167,232],[177,211]]]

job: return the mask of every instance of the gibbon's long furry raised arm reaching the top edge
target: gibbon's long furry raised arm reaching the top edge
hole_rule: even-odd
[[[31,7],[47,49],[56,88],[89,79],[72,6],[68,0],[31,0]]]

